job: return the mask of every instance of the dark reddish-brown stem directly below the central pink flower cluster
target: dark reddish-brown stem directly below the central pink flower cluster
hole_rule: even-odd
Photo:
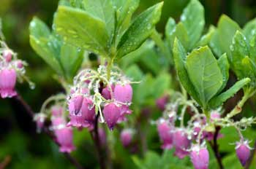
[[[102,145],[100,144],[100,141],[99,141],[99,132],[98,132],[99,131],[98,130],[98,127],[99,127],[98,121],[99,120],[98,119],[99,119],[99,113],[96,116],[95,123],[94,123],[94,130],[91,131],[91,137],[94,140],[94,145],[95,145],[95,148],[97,149],[100,168],[106,169],[107,165],[105,162],[105,154],[102,151]]]

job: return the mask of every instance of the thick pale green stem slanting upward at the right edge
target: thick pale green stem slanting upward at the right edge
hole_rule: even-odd
[[[247,89],[244,92],[244,96],[241,99],[241,101],[238,102],[236,107],[230,111],[229,114],[227,114],[227,119],[230,119],[231,117],[236,116],[236,114],[239,114],[242,111],[242,107],[244,106],[244,103],[252,96],[254,95],[255,91],[252,91],[251,89]]]

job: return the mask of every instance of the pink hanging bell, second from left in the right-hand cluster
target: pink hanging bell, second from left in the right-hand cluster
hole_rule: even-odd
[[[184,130],[176,130],[176,132],[173,133],[173,144],[175,146],[174,154],[178,158],[182,159],[189,154],[187,149],[189,149],[191,141],[189,141],[188,135],[184,132]]]

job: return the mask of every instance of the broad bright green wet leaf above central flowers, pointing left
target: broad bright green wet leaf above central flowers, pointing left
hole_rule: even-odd
[[[80,9],[59,6],[54,19],[58,34],[75,47],[108,54],[108,31],[105,23]]]

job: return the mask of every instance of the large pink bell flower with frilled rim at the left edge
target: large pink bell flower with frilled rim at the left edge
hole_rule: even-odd
[[[0,94],[1,98],[12,98],[17,95],[15,91],[16,71],[3,69],[0,71]]]

